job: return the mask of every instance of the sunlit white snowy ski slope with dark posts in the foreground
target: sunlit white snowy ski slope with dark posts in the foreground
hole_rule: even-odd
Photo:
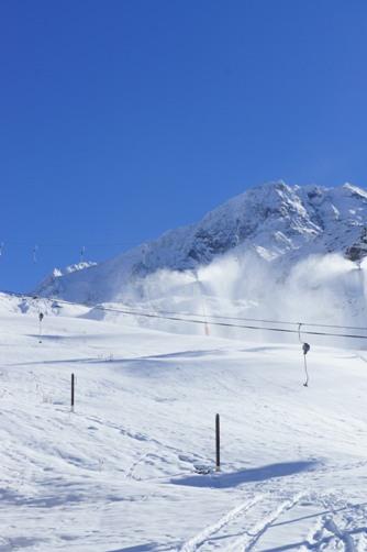
[[[367,550],[366,351],[65,312],[1,298],[1,552]]]

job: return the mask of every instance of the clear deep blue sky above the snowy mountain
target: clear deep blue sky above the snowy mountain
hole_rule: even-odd
[[[366,0],[2,0],[0,289],[266,180],[365,186],[366,56]]]

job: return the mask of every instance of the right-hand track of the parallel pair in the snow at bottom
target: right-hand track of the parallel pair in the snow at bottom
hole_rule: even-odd
[[[245,534],[240,537],[240,539],[230,544],[225,550],[227,552],[238,552],[240,550],[248,552],[269,529],[269,527],[279,518],[279,516],[293,508],[301,500],[301,498],[304,498],[305,496],[305,493],[298,493],[293,497],[280,503],[277,508],[271,508],[270,511],[263,517],[260,522],[256,523],[251,530],[246,530]]]

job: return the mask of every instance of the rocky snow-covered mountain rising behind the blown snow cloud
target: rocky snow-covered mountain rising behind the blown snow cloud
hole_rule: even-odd
[[[36,290],[78,301],[125,298],[132,283],[159,269],[197,271],[221,256],[252,252],[258,261],[291,266],[310,254],[367,253],[367,192],[356,186],[288,186],[249,189],[200,222],[171,230],[110,261],[54,271]]]

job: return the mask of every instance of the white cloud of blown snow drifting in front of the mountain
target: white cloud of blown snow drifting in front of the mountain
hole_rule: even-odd
[[[125,284],[119,300],[152,312],[192,313],[208,321],[210,334],[242,341],[297,342],[297,336],[211,327],[211,317],[365,325],[367,264],[360,269],[342,255],[311,255],[293,265],[266,261],[255,251],[216,258],[197,271],[159,269]],[[203,328],[142,318],[136,323],[177,333],[203,334]],[[241,321],[238,321],[241,323]],[[341,331],[343,333],[343,331]],[[359,340],[314,338],[313,344],[364,346]],[[366,343],[367,345],[367,343]]]

